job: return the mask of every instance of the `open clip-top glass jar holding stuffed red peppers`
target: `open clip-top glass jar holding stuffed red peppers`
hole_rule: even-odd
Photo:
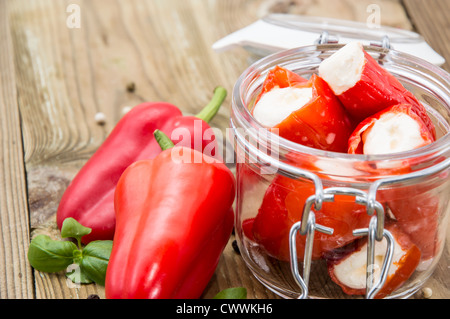
[[[281,297],[373,298],[399,269],[392,266],[397,248],[389,228],[399,226],[421,257],[408,280],[385,297],[407,298],[433,273],[445,244],[450,75],[407,54],[365,47],[424,104],[436,126],[436,142],[407,152],[369,156],[309,148],[270,132],[250,112],[270,69],[278,65],[308,78],[341,47],[313,45],[276,53],[238,79],[230,121],[238,182],[237,242],[254,276]],[[323,216],[345,211],[367,218],[328,223]],[[361,293],[355,284],[359,293],[344,292],[330,267],[364,240],[363,269],[349,269],[359,277],[362,272],[365,288]]]

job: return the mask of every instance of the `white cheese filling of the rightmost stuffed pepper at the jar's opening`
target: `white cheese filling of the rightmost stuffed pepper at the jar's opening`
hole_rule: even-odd
[[[363,134],[364,154],[389,154],[423,146],[419,124],[405,113],[388,113]]]

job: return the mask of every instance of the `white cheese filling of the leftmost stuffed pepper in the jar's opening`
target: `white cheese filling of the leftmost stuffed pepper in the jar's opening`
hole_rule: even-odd
[[[274,127],[311,99],[312,88],[274,88],[261,96],[253,116],[262,125]]]

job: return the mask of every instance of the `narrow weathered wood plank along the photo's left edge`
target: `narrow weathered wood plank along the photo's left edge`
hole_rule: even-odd
[[[0,299],[32,298],[22,132],[7,3],[0,2]]]

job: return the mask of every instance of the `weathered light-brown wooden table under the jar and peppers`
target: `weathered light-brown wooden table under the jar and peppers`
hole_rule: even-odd
[[[58,232],[63,191],[125,107],[160,100],[195,113],[248,66],[243,49],[214,52],[218,39],[272,12],[366,21],[369,4],[382,24],[421,33],[450,62],[448,0],[0,1],[0,298],[104,298],[103,287],[69,288],[64,273],[34,271],[27,249],[34,234]],[[228,127],[230,96],[212,126]],[[432,298],[450,297],[449,238],[425,285]],[[232,240],[203,297],[244,286],[248,298],[277,298]]]

